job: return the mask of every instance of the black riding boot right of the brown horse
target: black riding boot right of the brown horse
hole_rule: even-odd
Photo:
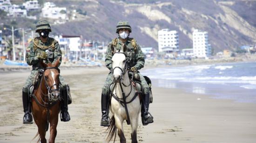
[[[70,120],[70,116],[67,111],[67,90],[66,88],[62,90],[62,100],[61,100],[61,121],[68,122]]]

